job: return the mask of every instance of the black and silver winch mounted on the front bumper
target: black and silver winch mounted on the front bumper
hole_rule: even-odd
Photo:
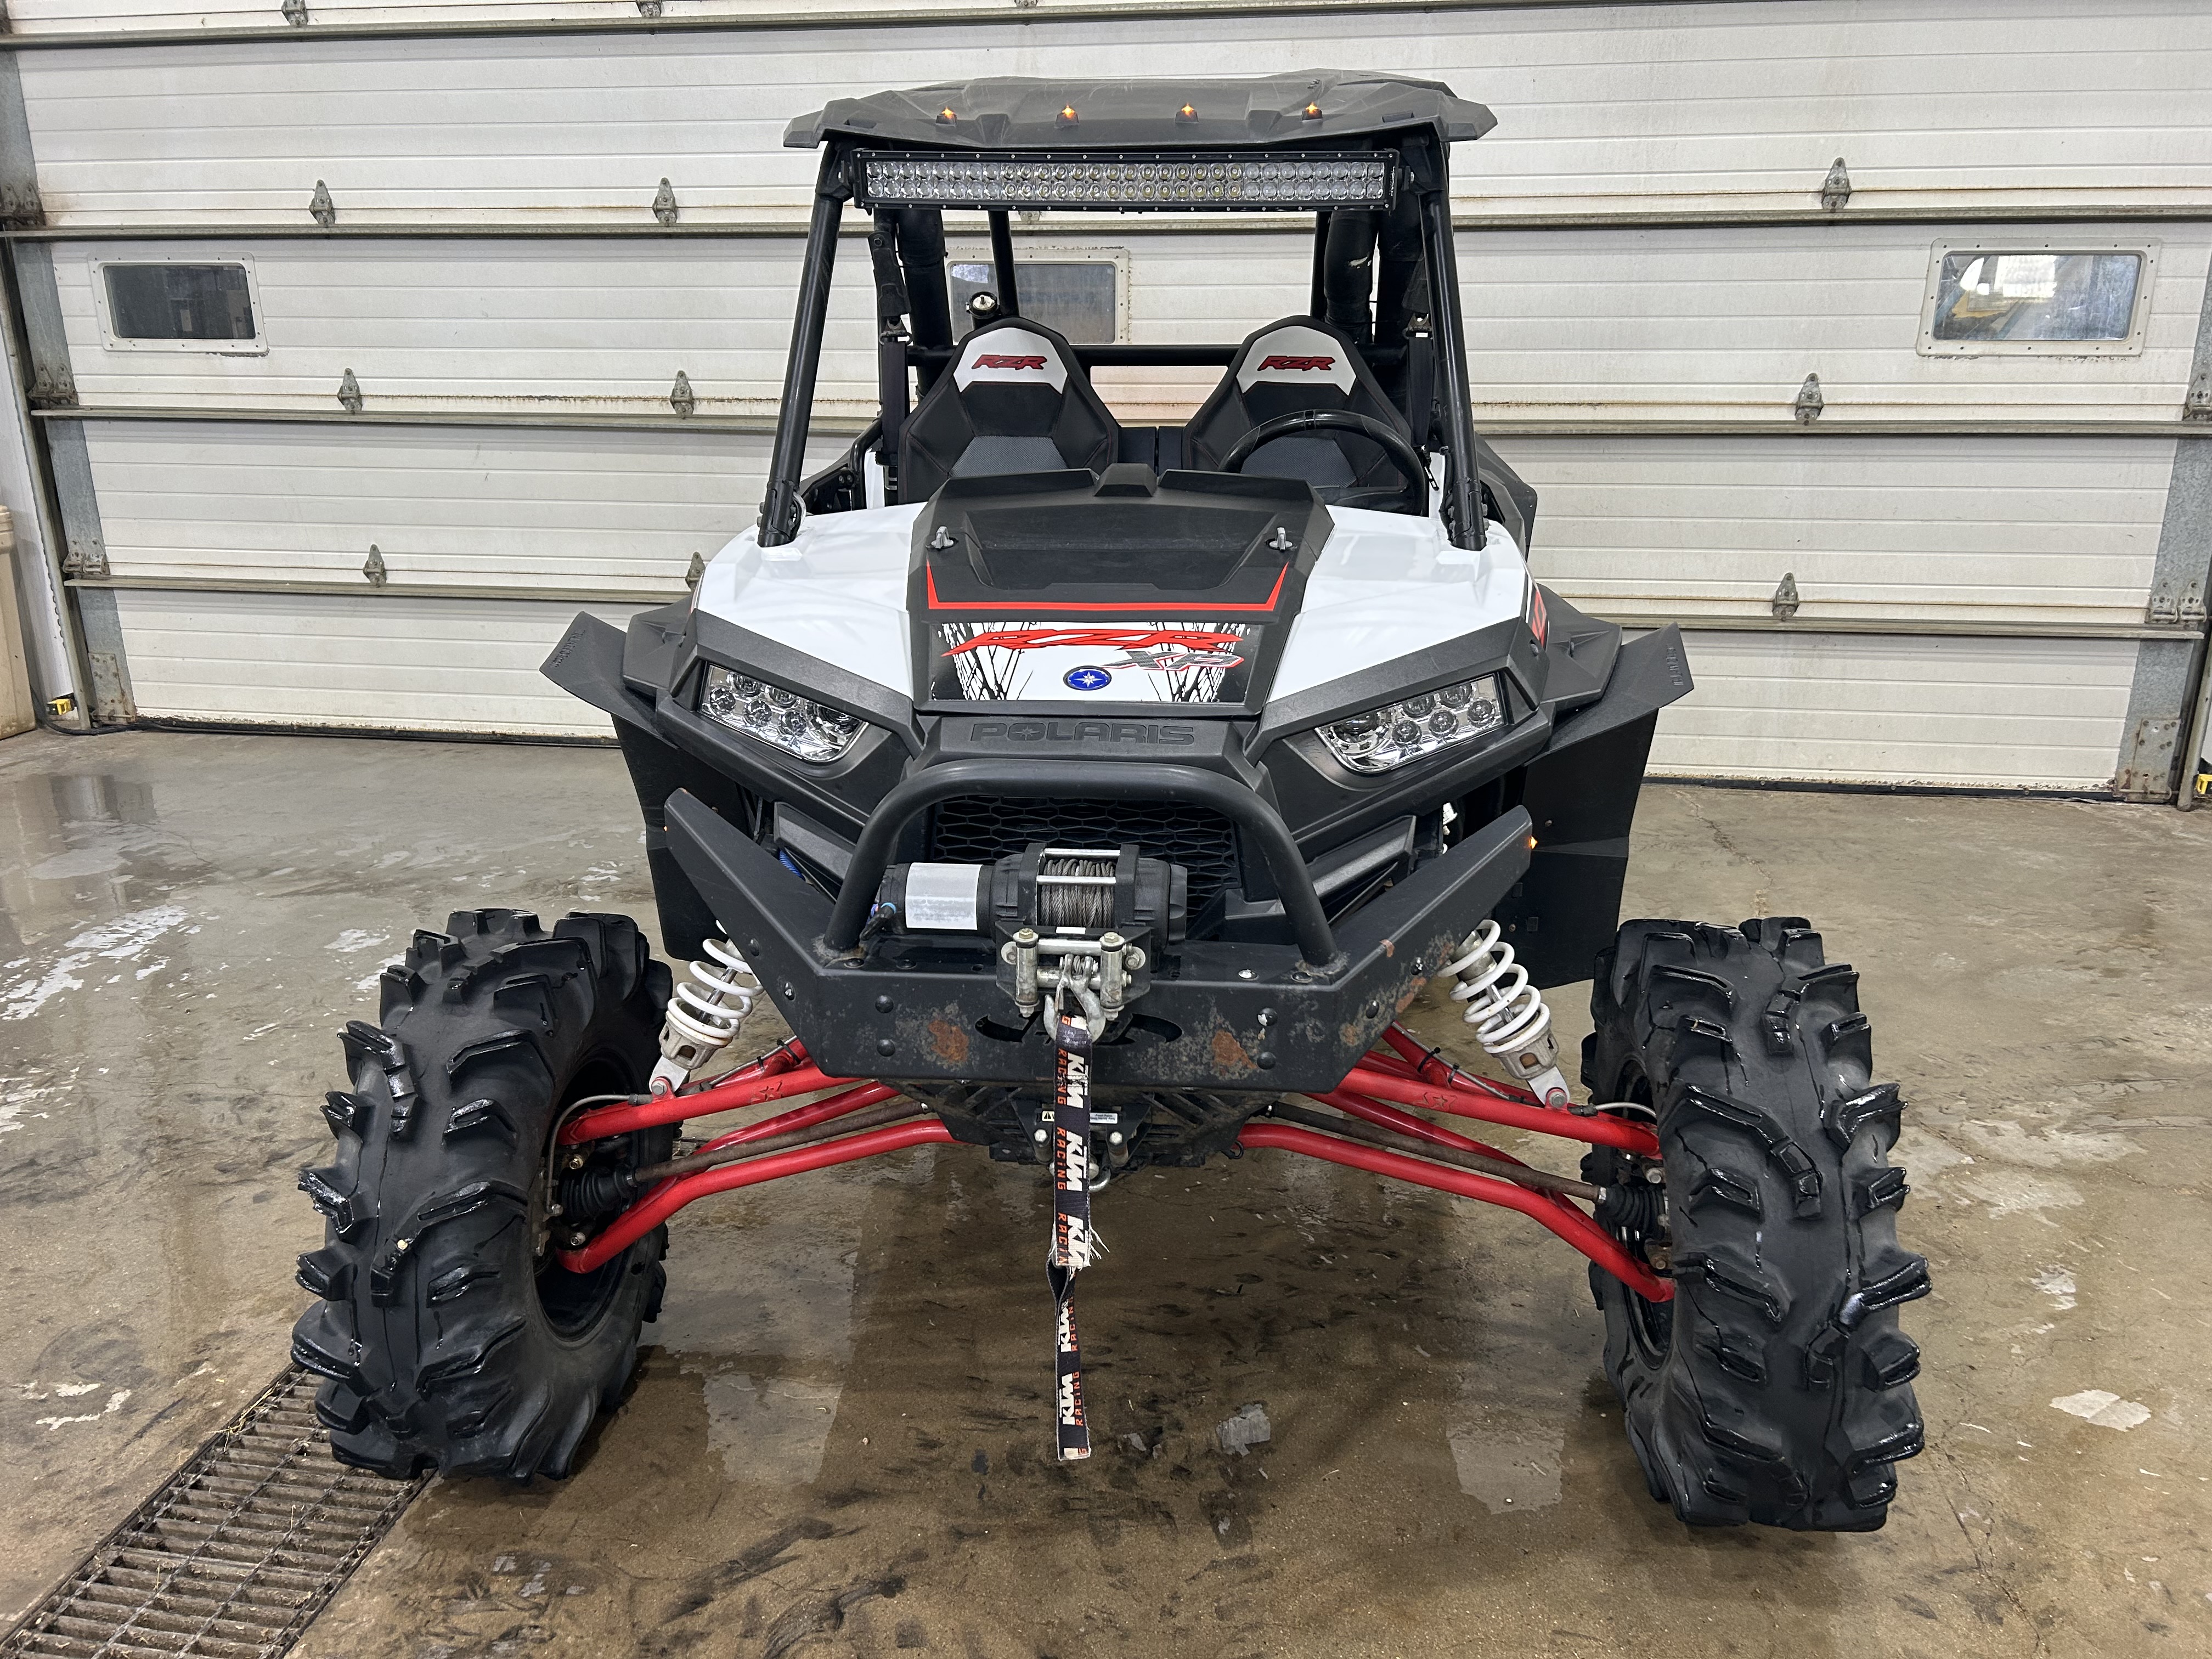
[[[1152,962],[1190,911],[1181,865],[1121,847],[1033,841],[991,865],[891,865],[872,931],[967,933],[998,947],[998,984],[1024,1020],[1066,989],[1095,1024],[1150,989]]]

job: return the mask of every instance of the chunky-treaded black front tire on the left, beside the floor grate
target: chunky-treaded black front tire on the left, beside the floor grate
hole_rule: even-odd
[[[628,916],[456,911],[385,971],[383,1024],[345,1029],[336,1157],[301,1170],[325,1243],[292,1358],[343,1462],[385,1473],[566,1475],[659,1314],[666,1230],[591,1274],[553,1250],[553,1133],[593,1095],[646,1086],[668,1002]],[[597,1144],[653,1164],[675,1128]]]

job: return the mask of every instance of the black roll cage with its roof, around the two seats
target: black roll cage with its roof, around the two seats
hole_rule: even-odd
[[[1270,212],[1314,223],[1310,316],[1347,336],[1405,416],[1422,456],[1444,458],[1451,540],[1482,544],[1489,513],[1524,520],[1522,489],[1475,438],[1451,234],[1449,150],[1493,119],[1433,82],[1334,73],[1237,82],[984,80],[841,100],[792,122],[821,146],[799,314],[776,416],[759,540],[779,546],[805,511],[867,502],[865,469],[898,502],[900,436],[956,358],[945,212],[982,212],[1000,319],[1022,316],[1015,212]],[[1318,177],[1316,177],[1318,175]],[[878,416],[847,456],[805,480],[807,429],[847,208],[872,215]],[[1254,323],[1261,319],[1254,319]],[[1073,345],[1077,365],[1230,367],[1241,343]],[[1179,427],[1124,427],[1121,460],[1181,465]],[[1486,465],[1489,462],[1489,465]],[[1522,535],[1522,544],[1526,538]]]

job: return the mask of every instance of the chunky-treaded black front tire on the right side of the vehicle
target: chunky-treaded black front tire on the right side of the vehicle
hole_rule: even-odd
[[[1646,1159],[1597,1150],[1606,1221],[1674,1276],[1650,1303],[1590,1270],[1606,1371],[1652,1498],[1703,1526],[1874,1531],[1920,1451],[1920,1349],[1898,1305],[1898,1086],[1871,1082],[1858,975],[1801,916],[1626,922],[1597,958],[1582,1082],[1652,1113]]]

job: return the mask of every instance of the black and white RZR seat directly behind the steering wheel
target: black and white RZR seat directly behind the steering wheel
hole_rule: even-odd
[[[1192,467],[1214,469],[1248,431],[1303,409],[1345,409],[1413,436],[1345,334],[1312,316],[1285,316],[1237,349],[1221,385],[1183,427],[1183,453]],[[1303,478],[1323,500],[1405,482],[1383,447],[1356,431],[1274,438],[1254,449],[1243,469],[1256,478]]]

